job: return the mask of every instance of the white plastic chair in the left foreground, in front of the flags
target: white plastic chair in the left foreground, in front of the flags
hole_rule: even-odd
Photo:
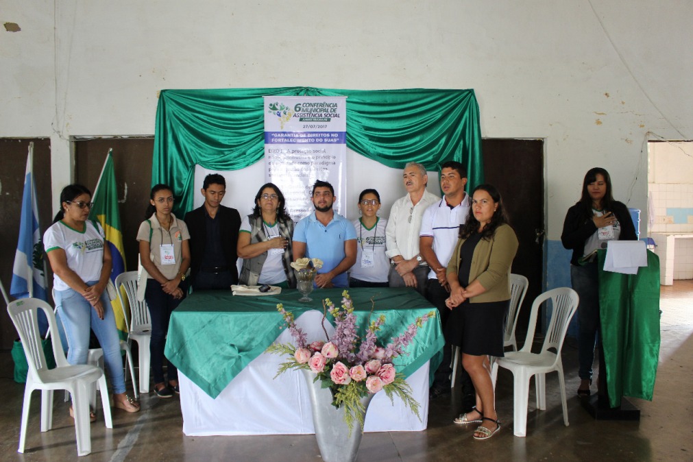
[[[49,332],[55,355],[55,368],[46,367],[46,357],[41,345],[38,327],[38,310],[43,310],[49,322]],[[41,390],[41,431],[47,432],[53,427],[53,390],[67,390],[72,395],[75,415],[75,434],[77,438],[77,455],[86,456],[91,452],[91,428],[89,423],[88,393],[94,382],[98,382],[101,391],[101,404],[107,428],[113,428],[111,406],[108,400],[106,377],[103,370],[91,364],[71,366],[62,351],[58,325],[51,305],[40,299],[19,299],[7,307],[12,322],[19,332],[19,339],[24,346],[28,373],[24,390],[24,406],[21,410],[21,427],[19,429],[19,448],[24,452],[26,442],[26,425],[29,417],[31,393]]]

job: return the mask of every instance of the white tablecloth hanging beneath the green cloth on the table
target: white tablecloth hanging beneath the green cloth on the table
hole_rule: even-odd
[[[320,327],[322,312],[309,311],[297,319],[309,341],[324,339]],[[325,323],[331,333],[334,328]],[[291,340],[288,330],[277,338]],[[277,368],[285,358],[260,355],[229,385],[212,399],[179,372],[183,432],[188,436],[312,434],[313,414],[305,379],[299,371],[288,371],[276,379]],[[416,432],[428,423],[428,362],[407,378],[414,399],[419,402],[421,420],[394,396],[394,405],[385,392],[371,400],[365,432]]]

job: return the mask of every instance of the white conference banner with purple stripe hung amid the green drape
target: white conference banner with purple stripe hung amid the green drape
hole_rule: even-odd
[[[347,98],[265,96],[265,180],[286,198],[294,221],[313,212],[316,180],[335,188],[335,213],[347,193]]]

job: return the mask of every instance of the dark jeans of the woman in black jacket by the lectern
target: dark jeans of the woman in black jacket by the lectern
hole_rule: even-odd
[[[585,266],[570,265],[572,288],[580,297],[577,306],[577,356],[581,379],[592,379],[592,364],[595,360],[595,344],[599,330],[599,278],[597,263]]]

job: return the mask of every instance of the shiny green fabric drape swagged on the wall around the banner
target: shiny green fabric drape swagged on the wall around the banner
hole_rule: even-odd
[[[195,164],[239,170],[264,157],[263,96],[347,96],[347,146],[392,168],[416,161],[468,170],[468,190],[484,181],[479,107],[471,89],[342,90],[310,87],[162,90],[152,186],[173,188],[175,213],[193,208]]]

